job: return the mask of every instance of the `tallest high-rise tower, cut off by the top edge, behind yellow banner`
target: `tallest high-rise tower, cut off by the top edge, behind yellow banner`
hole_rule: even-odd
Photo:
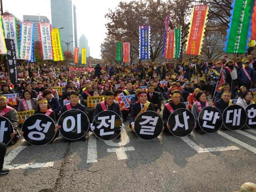
[[[52,28],[60,29],[64,51],[74,52],[73,5],[72,0],[51,0]]]

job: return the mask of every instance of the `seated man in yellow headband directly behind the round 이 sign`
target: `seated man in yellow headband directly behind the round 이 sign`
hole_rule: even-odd
[[[78,109],[78,110],[81,110],[82,112],[85,112],[85,107],[78,103],[78,101],[79,101],[78,92],[72,90],[72,91],[68,92],[68,96],[69,96],[70,103],[64,105],[61,108],[60,114],[64,113],[67,110],[70,110],[70,109]]]

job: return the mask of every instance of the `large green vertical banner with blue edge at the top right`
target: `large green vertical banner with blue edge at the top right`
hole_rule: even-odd
[[[228,34],[224,51],[226,53],[245,53],[248,49],[247,38],[254,0],[234,0],[228,24]]]

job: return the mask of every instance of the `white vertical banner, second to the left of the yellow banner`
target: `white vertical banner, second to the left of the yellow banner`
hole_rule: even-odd
[[[21,22],[20,59],[32,60],[33,23]]]

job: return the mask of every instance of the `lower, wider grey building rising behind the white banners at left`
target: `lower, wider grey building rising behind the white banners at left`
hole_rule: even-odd
[[[40,41],[39,39],[39,28],[38,23],[43,22],[50,22],[50,20],[46,16],[36,16],[36,15],[23,15],[23,20],[34,23],[34,42]]]

